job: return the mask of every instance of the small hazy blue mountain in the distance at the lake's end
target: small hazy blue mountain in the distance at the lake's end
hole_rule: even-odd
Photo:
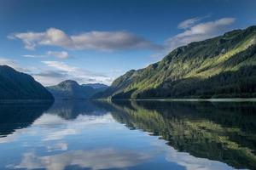
[[[102,92],[106,88],[100,88],[99,86],[93,88],[92,85],[79,85],[78,82],[73,80],[66,80],[56,86],[47,87],[47,89],[55,99],[90,99],[93,94]]]

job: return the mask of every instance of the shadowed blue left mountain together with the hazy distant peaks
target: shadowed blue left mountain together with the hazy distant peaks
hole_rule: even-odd
[[[15,71],[7,65],[0,65],[0,100],[15,99],[90,99],[96,93],[108,88],[102,83],[79,85],[78,82],[67,80],[56,86],[44,88],[33,77]]]

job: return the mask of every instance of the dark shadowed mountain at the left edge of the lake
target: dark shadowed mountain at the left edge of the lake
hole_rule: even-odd
[[[47,99],[53,96],[33,77],[0,65],[0,99]]]

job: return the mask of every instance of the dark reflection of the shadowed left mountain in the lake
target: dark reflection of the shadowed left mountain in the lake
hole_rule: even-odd
[[[52,105],[50,102],[19,102],[0,104],[0,135],[28,127]]]

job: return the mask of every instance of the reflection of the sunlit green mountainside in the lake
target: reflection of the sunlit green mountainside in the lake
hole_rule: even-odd
[[[115,101],[113,117],[131,128],[160,135],[179,151],[256,168],[253,103]]]

